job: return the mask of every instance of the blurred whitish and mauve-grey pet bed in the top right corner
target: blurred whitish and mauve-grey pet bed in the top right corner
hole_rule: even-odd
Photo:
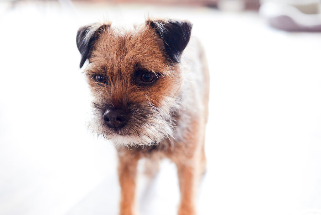
[[[321,31],[319,0],[264,0],[259,13],[275,28],[286,31]]]

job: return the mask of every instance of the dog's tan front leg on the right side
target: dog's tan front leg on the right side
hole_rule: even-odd
[[[195,194],[198,181],[198,171],[194,160],[178,163],[178,181],[181,194],[181,201],[178,208],[178,215],[195,215]]]

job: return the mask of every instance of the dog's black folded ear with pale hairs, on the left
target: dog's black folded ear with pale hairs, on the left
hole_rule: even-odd
[[[77,32],[77,48],[81,53],[80,68],[90,57],[95,41],[99,38],[102,31],[107,30],[110,24],[90,24],[79,28]]]

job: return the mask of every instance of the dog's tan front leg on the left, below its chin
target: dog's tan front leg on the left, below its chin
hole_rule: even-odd
[[[125,149],[127,150],[127,149]],[[120,215],[136,215],[135,190],[139,157],[131,153],[118,152],[118,179],[121,190]]]

